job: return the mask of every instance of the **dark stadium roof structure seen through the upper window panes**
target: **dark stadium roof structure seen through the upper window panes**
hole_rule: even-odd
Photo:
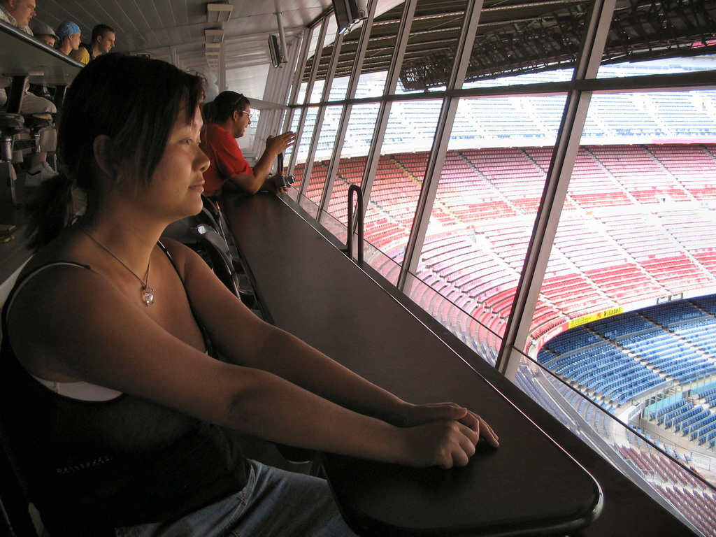
[[[589,9],[583,0],[485,0],[467,81],[570,67],[579,54]],[[441,87],[450,76],[465,0],[421,0],[400,72],[406,89]],[[376,16],[363,72],[390,66],[402,4]],[[336,77],[355,61],[360,32],[344,35]],[[326,77],[333,44],[321,51]],[[716,52],[716,0],[617,0],[603,62],[627,62]],[[306,69],[306,77],[310,69]]]

